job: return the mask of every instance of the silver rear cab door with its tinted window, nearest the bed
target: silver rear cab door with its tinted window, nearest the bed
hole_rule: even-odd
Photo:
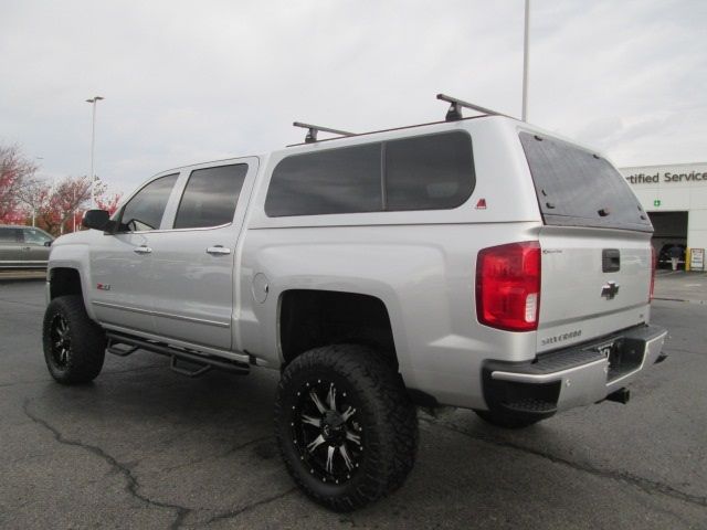
[[[256,158],[182,170],[168,230],[150,234],[150,293],[161,337],[231,348],[236,244],[256,171]]]

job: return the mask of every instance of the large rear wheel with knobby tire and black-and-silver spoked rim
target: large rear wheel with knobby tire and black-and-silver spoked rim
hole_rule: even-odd
[[[398,373],[373,351],[328,346],[285,369],[275,435],[297,486],[350,511],[403,484],[415,460],[418,415]]]

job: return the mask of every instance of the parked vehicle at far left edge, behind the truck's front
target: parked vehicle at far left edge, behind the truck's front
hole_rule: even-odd
[[[34,226],[0,225],[0,268],[46,268],[53,241]]]

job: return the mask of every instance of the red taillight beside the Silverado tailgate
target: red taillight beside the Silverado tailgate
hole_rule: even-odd
[[[538,329],[540,244],[537,241],[492,246],[476,263],[476,317],[508,331]]]

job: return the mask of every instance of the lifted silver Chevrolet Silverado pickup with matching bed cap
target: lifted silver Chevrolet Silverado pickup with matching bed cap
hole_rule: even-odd
[[[418,404],[523,427],[625,402],[664,358],[647,214],[602,155],[451,100],[445,121],[310,127],[87,212],[52,246],[51,374],[91,381],[138,349],[189,375],[279,370],[287,469],[340,511],[402,485]]]

